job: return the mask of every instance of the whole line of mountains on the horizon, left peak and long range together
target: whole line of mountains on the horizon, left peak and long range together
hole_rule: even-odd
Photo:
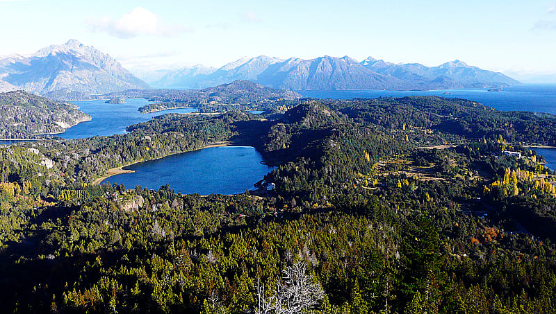
[[[288,90],[335,89],[457,89],[507,87],[518,81],[502,73],[473,67],[455,60],[438,67],[394,64],[367,58],[328,55],[311,60],[243,58],[220,68],[196,65],[149,81],[171,89],[202,89],[236,80],[251,80],[265,87]],[[51,45],[31,55],[0,57],[0,91],[24,89],[56,99],[83,99],[149,85],[124,69],[115,58],[77,40]]]

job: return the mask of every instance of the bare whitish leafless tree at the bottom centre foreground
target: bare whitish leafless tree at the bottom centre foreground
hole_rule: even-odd
[[[256,314],[304,313],[320,303],[325,293],[320,284],[313,283],[304,262],[284,270],[284,282],[278,282],[272,297],[265,296],[265,286],[257,284]]]

